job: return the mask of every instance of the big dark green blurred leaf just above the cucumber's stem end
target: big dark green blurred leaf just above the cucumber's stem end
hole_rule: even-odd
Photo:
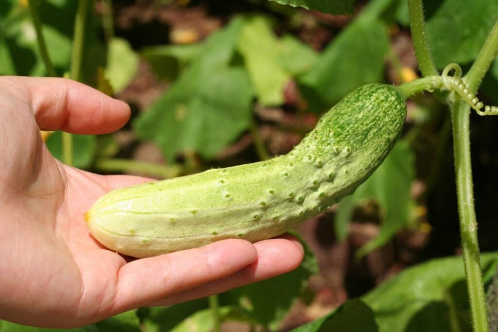
[[[388,48],[385,24],[367,19],[350,24],[298,81],[311,110],[326,111],[352,90],[382,81]]]

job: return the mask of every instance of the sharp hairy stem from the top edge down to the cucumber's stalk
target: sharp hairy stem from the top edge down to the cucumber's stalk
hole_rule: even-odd
[[[425,18],[422,0],[408,0],[410,14],[410,30],[415,57],[423,76],[438,75],[436,65],[432,60],[427,33],[425,31]]]

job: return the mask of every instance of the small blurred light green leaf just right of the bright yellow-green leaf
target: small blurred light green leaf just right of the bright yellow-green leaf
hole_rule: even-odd
[[[279,64],[292,76],[308,72],[318,61],[318,54],[292,35],[284,35],[277,46]]]

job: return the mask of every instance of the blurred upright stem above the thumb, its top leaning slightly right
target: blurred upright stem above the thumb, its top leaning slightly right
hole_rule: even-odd
[[[80,80],[87,8],[88,0],[79,0],[74,22],[73,49],[71,53],[71,79],[75,81]]]

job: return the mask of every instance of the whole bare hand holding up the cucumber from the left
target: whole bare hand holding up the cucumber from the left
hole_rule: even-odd
[[[0,77],[0,319],[38,327],[88,325],[144,306],[220,293],[296,268],[293,237],[227,239],[143,259],[95,240],[83,214],[107,192],[150,181],[102,176],[54,159],[38,128],[101,134],[129,107],[58,78]]]

